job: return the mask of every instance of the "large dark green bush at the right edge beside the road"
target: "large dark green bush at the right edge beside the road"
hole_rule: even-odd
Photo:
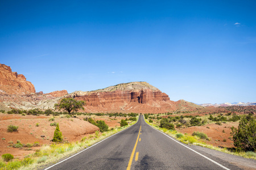
[[[243,117],[238,128],[231,128],[234,146],[238,150],[256,151],[256,120],[251,117]]]

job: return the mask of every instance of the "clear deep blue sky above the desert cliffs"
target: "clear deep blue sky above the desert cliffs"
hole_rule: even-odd
[[[146,81],[171,100],[256,101],[256,1],[3,1],[0,63],[36,91]]]

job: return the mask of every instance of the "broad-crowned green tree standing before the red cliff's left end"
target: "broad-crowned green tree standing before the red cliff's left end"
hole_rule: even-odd
[[[59,104],[55,104],[55,108],[64,109],[65,111],[68,112],[68,114],[73,114],[71,111],[78,111],[79,109],[84,110],[85,101],[82,100],[75,100],[71,97],[69,98],[63,98],[61,99]]]

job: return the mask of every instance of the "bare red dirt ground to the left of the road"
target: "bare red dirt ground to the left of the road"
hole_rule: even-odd
[[[20,118],[21,117],[21,118]],[[12,118],[12,119],[11,119]],[[17,119],[19,118],[19,119]],[[60,131],[64,140],[68,142],[79,141],[86,134],[94,133],[98,130],[97,126],[79,118],[55,118],[55,121],[49,121],[51,116],[20,116],[13,114],[0,114],[0,155],[12,154],[15,158],[23,158],[24,156],[35,152],[39,147],[32,147],[32,150],[26,150],[26,147],[13,148],[9,147],[10,141],[14,144],[19,140],[22,144],[39,142],[40,146],[51,143],[55,126],[50,126],[53,122],[58,122]],[[36,127],[36,123],[39,126]],[[18,126],[18,132],[9,133],[7,127],[9,125]],[[40,135],[44,135],[42,138]],[[2,139],[2,138],[5,138]]]

